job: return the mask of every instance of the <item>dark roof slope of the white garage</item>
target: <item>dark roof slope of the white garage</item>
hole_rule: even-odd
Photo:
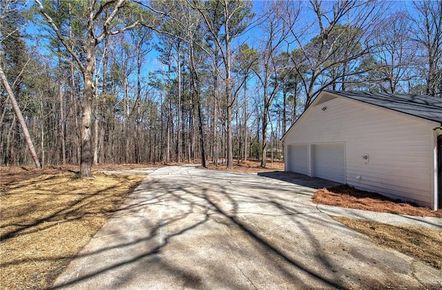
[[[442,99],[434,96],[332,90],[325,92],[442,123]]]

